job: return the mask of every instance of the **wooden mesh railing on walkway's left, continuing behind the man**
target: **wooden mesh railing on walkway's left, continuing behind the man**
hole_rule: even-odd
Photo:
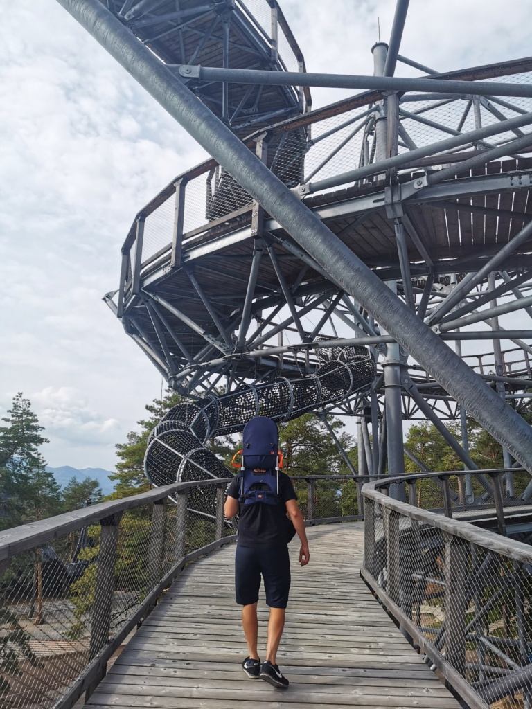
[[[168,485],[0,532],[0,707],[68,709],[90,695],[184,566],[235,540],[223,518],[230,480]],[[294,477],[307,524],[360,520],[363,480]],[[214,498],[213,518],[193,509],[198,496]]]

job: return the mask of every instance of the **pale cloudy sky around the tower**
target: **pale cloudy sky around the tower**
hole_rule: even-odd
[[[392,0],[282,7],[316,72],[372,73],[377,18],[387,40],[394,13]],[[440,71],[524,57],[531,26],[528,0],[412,0],[401,54]],[[313,94],[315,107],[346,95]],[[0,415],[23,391],[48,464],[112,469],[161,381],[101,297],[136,211],[204,152],[55,0],[4,8],[0,135]]]

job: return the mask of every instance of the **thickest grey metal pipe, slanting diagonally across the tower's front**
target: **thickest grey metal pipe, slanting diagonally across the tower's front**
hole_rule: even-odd
[[[150,50],[123,26],[99,0],[57,0],[113,57],[147,89],[200,145],[211,154],[248,191],[272,217],[292,234],[300,247],[323,266],[329,279],[351,294],[382,327],[392,334],[412,357],[438,379],[441,386],[465,406],[501,445],[506,445],[516,459],[532,470],[532,432],[519,414],[487,386],[470,367],[435,333],[428,330],[416,314],[406,308],[380,279],[312,213],[297,195],[292,194],[253,153],[231,133],[209,108],[175,77]],[[282,74],[283,72],[265,72]],[[299,85],[306,74],[296,74]],[[370,81],[392,82],[397,79],[370,77]],[[419,79],[430,82],[431,79]],[[411,82],[411,79],[409,80]],[[471,91],[477,84],[468,84]],[[491,93],[500,94],[502,84]],[[426,84],[421,87],[430,90]],[[512,91],[516,86],[513,85]],[[526,87],[532,92],[532,86]],[[438,89],[444,89],[438,84]],[[530,120],[521,117],[521,120]],[[498,130],[510,128],[502,121]],[[505,125],[506,124],[506,125]],[[512,124],[513,125],[513,124]],[[482,129],[484,130],[484,129]],[[453,138],[450,140],[458,140]],[[397,160],[395,156],[394,160]],[[411,157],[411,154],[409,154]],[[521,232],[521,238],[522,237]],[[519,237],[517,237],[519,239]],[[511,244],[516,243],[516,238]],[[491,267],[489,270],[493,270]],[[214,344],[212,342],[211,344]]]

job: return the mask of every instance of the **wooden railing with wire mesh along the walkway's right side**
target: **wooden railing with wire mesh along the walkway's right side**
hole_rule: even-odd
[[[475,508],[464,503],[465,471],[362,489],[363,578],[414,646],[479,709],[503,698],[526,709],[532,703],[532,549],[504,536],[511,522],[523,535],[532,507],[504,500],[505,472],[475,479],[482,498]],[[479,508],[482,515],[473,512]],[[465,521],[475,516],[477,525],[496,520],[499,533]]]

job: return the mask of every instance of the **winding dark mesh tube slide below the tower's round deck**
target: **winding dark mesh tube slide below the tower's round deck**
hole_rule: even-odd
[[[174,482],[227,478],[228,469],[207,450],[209,438],[243,430],[255,416],[287,421],[351,393],[369,388],[375,362],[367,347],[316,350],[323,363],[315,374],[295,381],[279,377],[269,384],[245,386],[194,403],[177,404],[148,438],[144,469],[155,487]],[[214,517],[214,491],[193,489],[189,508]]]

